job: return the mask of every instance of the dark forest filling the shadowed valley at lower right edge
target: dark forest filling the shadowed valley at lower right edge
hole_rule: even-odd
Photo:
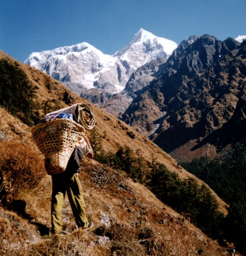
[[[205,157],[180,163],[188,172],[208,184],[226,203],[224,236],[246,254],[246,140],[233,145],[219,159]]]

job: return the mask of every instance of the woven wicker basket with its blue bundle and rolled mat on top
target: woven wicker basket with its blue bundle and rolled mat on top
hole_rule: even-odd
[[[86,130],[95,126],[94,112],[84,103],[46,114],[31,130],[39,150],[45,155],[48,174],[65,171],[76,144]]]

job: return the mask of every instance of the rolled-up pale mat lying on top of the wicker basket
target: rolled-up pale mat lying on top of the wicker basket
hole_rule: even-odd
[[[48,113],[46,116],[60,113],[73,114],[75,121],[84,126],[86,130],[91,130],[95,126],[96,120],[94,112],[84,103],[77,103],[70,107],[62,108],[60,110]]]

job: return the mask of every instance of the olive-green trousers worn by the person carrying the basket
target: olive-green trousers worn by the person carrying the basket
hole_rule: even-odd
[[[62,230],[62,208],[66,193],[78,227],[87,227],[86,204],[84,202],[78,173],[68,172],[52,175],[51,196],[51,232],[59,233]]]

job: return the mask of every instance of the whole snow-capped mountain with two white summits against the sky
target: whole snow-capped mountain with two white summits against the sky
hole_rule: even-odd
[[[137,68],[159,57],[167,60],[175,48],[175,42],[140,29],[132,41],[114,55],[104,54],[83,42],[32,53],[25,63],[62,81],[78,95],[90,95],[95,90],[111,95],[125,88]]]

